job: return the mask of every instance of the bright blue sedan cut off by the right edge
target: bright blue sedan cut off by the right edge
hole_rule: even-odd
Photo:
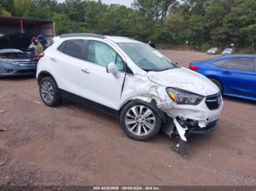
[[[256,101],[256,55],[227,55],[192,61],[189,69],[211,79],[223,95]]]

